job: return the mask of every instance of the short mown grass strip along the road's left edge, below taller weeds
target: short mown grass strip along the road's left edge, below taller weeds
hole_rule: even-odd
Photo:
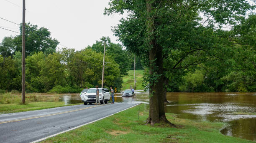
[[[64,102],[30,102],[28,104],[0,104],[0,114],[3,113],[16,113],[24,111],[41,110],[46,108],[55,108],[62,106],[71,106],[77,104],[65,105]]]

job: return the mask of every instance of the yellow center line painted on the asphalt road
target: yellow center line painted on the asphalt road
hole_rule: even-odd
[[[106,105],[106,104],[105,104],[105,105]],[[104,106],[104,105],[98,105],[98,106]],[[23,121],[23,120],[33,119],[33,118],[41,118],[41,117],[59,115],[59,114],[63,114],[63,113],[70,113],[70,112],[80,111],[80,110],[89,109],[89,108],[94,108],[94,107],[98,107],[98,106],[92,106],[92,107],[86,107],[86,108],[80,108],[80,109],[76,109],[76,110],[71,110],[71,111],[64,111],[64,112],[59,112],[59,113],[53,113],[53,114],[48,114],[48,115],[44,115],[44,116],[34,116],[34,117],[29,117],[29,118],[21,118],[21,119],[17,119],[17,120],[3,121],[3,122],[0,122],[0,124],[2,124],[2,123],[16,122],[16,121]]]

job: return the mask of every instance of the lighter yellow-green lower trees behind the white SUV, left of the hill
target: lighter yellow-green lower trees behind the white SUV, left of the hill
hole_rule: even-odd
[[[31,25],[31,28],[36,26]],[[40,30],[44,30],[40,29]],[[45,31],[47,33],[47,31]],[[48,33],[49,34],[49,33]],[[34,43],[35,44],[35,43]],[[110,43],[112,49],[123,54],[119,44]],[[43,49],[46,49],[45,51]],[[26,93],[79,93],[86,86],[91,88],[101,85],[103,54],[92,48],[75,52],[74,49],[63,48],[58,52],[47,52],[47,48],[37,49],[26,57]],[[108,50],[110,51],[110,50]],[[115,60],[127,62],[120,55],[106,54],[104,86],[115,86],[121,89],[123,79],[120,65]],[[125,57],[124,55],[122,55]],[[117,59],[114,59],[116,57]],[[126,60],[126,61],[124,61]],[[108,63],[109,62],[109,63]],[[21,53],[16,50],[9,57],[0,55],[0,89],[12,91],[21,90]]]

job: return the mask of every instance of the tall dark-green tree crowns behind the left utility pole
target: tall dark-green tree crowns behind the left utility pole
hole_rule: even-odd
[[[34,52],[42,51],[45,54],[51,54],[56,51],[56,47],[59,42],[53,39],[51,32],[48,29],[37,25],[32,25],[29,22],[26,24],[26,56],[33,54]],[[9,57],[15,54],[15,52],[21,52],[22,50],[22,25],[20,25],[20,35],[15,37],[4,37],[0,44],[0,54],[3,57]]]

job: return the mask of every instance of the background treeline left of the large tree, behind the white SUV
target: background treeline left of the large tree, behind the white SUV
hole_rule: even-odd
[[[56,51],[59,42],[50,34],[44,27],[26,25],[26,92],[79,93],[86,86],[101,86],[104,42],[104,87],[121,89],[123,75],[133,66],[133,54],[108,37],[80,51]],[[21,91],[21,34],[5,37],[0,44],[0,71],[2,92]]]

